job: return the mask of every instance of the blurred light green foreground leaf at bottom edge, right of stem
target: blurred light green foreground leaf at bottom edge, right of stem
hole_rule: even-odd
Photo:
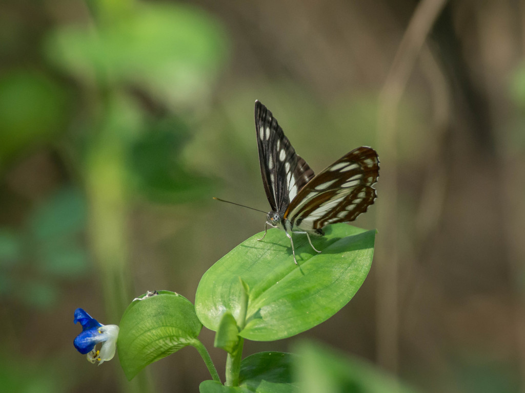
[[[358,357],[344,356],[312,343],[302,343],[294,352],[294,379],[301,393],[415,393]]]

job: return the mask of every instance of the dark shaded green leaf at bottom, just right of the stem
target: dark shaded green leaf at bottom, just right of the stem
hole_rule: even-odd
[[[294,355],[283,352],[260,352],[248,356],[240,364],[239,385],[261,393],[298,391],[291,377],[294,358]]]

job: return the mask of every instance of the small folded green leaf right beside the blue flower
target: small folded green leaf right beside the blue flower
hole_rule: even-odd
[[[128,380],[148,364],[193,345],[202,329],[193,304],[170,291],[133,301],[119,326],[117,348]]]

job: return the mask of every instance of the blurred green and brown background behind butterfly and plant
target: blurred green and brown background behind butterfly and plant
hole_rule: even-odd
[[[355,223],[379,231],[370,275],[301,338],[422,391],[524,391],[525,5],[447,4],[388,101],[418,4],[2,1],[2,390],[137,388],[118,361],[74,350],[73,312],[109,324],[146,290],[193,300],[264,229],[212,200],[269,209],[258,99],[316,172],[361,145],[381,159],[379,199]],[[225,353],[201,337],[223,376]],[[209,379],[192,348],[144,375],[158,392]]]

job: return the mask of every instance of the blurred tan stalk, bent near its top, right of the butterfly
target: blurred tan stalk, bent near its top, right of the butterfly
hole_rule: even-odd
[[[386,198],[377,204],[377,228],[383,236],[377,248],[377,362],[398,370],[398,245],[397,245],[397,108],[432,28],[446,0],[420,2],[409,21],[379,96],[377,149],[381,154],[380,192]]]

